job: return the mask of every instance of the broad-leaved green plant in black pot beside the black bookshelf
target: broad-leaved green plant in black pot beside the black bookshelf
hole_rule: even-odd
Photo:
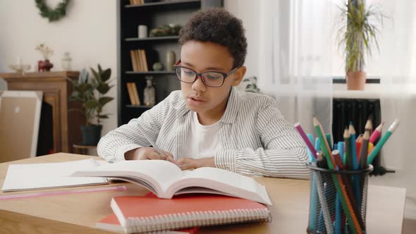
[[[109,114],[102,113],[105,104],[113,100],[113,97],[107,97],[111,87],[110,77],[111,69],[102,70],[98,65],[98,70],[91,69],[93,78],[84,68],[82,69],[78,80],[70,80],[73,84],[73,92],[69,97],[70,101],[79,101],[83,109],[72,109],[79,111],[85,116],[85,125],[81,126],[82,142],[84,145],[96,145],[101,137],[102,118],[109,118]]]

